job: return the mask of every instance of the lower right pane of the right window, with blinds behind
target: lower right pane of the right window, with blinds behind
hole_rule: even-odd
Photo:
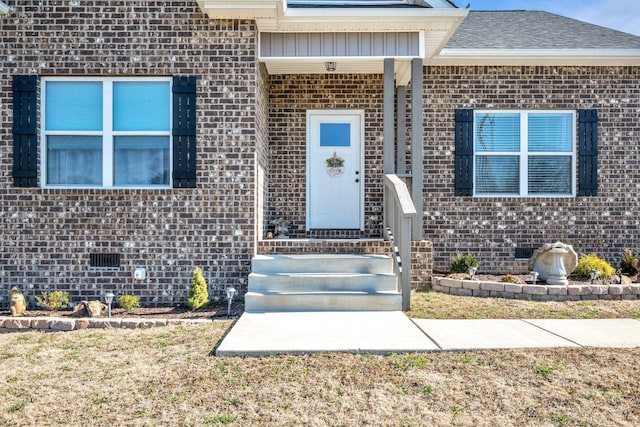
[[[571,194],[571,156],[531,156],[529,194]]]

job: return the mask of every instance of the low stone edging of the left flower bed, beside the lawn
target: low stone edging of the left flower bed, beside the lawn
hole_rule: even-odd
[[[154,328],[157,326],[211,323],[209,319],[139,319],[139,318],[78,318],[66,317],[8,317],[0,316],[0,332],[37,330],[44,332],[74,331],[88,328]]]

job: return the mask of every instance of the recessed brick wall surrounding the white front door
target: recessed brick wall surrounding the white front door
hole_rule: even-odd
[[[381,237],[383,81],[380,75],[270,76],[269,219],[292,237]],[[307,110],[364,110],[365,231],[305,232]]]

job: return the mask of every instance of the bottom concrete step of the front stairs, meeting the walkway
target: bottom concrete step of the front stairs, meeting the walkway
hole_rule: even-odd
[[[399,311],[398,292],[247,292],[245,311]]]

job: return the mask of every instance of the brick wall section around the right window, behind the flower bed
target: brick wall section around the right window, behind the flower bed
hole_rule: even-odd
[[[623,248],[640,249],[640,68],[426,67],[425,238],[434,269],[471,251],[481,271],[526,270],[516,247],[557,240],[618,266]],[[454,109],[596,108],[599,192],[576,198],[454,196]]]

